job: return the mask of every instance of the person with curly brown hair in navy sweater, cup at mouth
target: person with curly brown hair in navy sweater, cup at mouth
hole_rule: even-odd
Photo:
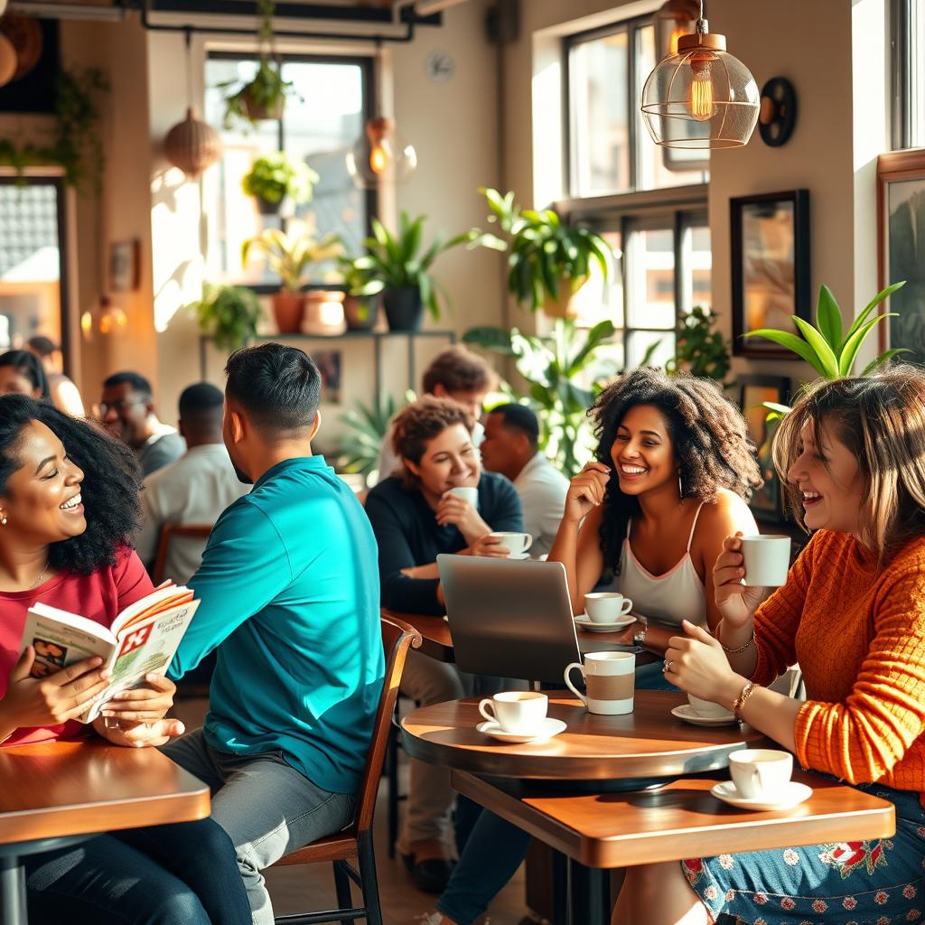
[[[493,531],[524,529],[520,498],[503,475],[482,470],[472,442],[472,414],[450,399],[425,396],[393,422],[404,475],[380,482],[366,499],[379,546],[382,606],[405,613],[444,612],[437,570],[441,552],[506,558]],[[507,538],[510,541],[510,537]],[[410,652],[401,690],[421,706],[511,689],[499,678],[462,674],[454,665]],[[448,840],[453,792],[445,768],[411,762],[400,848],[419,889],[439,893],[450,877]]]

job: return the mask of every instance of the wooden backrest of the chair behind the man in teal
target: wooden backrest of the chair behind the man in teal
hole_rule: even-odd
[[[376,710],[376,722],[373,725],[373,739],[369,744],[369,754],[360,783],[356,818],[353,832],[357,836],[373,827],[373,811],[376,808],[376,794],[379,790],[379,778],[382,776],[382,762],[386,758],[388,739],[392,730],[392,717],[395,714],[395,701],[399,696],[401,673],[404,672],[405,660],[409,648],[421,648],[421,634],[394,617],[382,617],[382,646],[386,652],[386,676],[382,683],[382,695]]]

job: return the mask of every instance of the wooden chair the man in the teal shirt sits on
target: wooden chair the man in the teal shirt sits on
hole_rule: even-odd
[[[373,726],[373,740],[366,757],[363,780],[357,800],[356,819],[349,829],[334,835],[319,838],[311,845],[292,851],[277,861],[282,864],[318,864],[331,861],[334,865],[334,886],[337,891],[338,908],[326,912],[297,913],[277,916],[277,922],[287,925],[314,925],[316,922],[341,922],[342,925],[366,919],[368,925],[382,925],[379,910],[379,888],[376,883],[376,857],[373,853],[373,813],[376,809],[376,793],[382,762],[386,756],[388,737],[395,713],[395,701],[401,684],[401,672],[409,648],[421,647],[421,635],[407,623],[382,617],[382,644],[386,651],[386,676],[376,710]],[[350,863],[356,858],[359,871]],[[363,895],[363,905],[354,907],[351,896],[351,881]]]

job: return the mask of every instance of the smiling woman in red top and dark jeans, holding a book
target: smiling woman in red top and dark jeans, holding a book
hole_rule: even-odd
[[[127,448],[44,401],[0,396],[0,743],[73,738],[73,722],[105,687],[101,660],[31,678],[19,654],[26,611],[41,600],[109,625],[152,590],[130,549],[139,475]],[[174,685],[149,676],[106,712],[97,734],[158,746]],[[213,820],[105,834],[27,863],[30,921],[243,925],[251,920],[234,848]]]

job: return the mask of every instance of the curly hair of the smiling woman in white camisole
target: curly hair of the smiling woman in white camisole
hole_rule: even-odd
[[[637,405],[652,405],[664,414],[680,462],[681,497],[715,501],[721,488],[748,500],[761,486],[755,444],[742,413],[712,379],[658,369],[635,369],[618,376],[599,395],[588,415],[595,425],[598,462],[612,466],[611,447],[623,415]],[[626,526],[639,510],[635,496],[624,495],[611,479],[604,495],[600,548],[605,568],[620,571]]]

